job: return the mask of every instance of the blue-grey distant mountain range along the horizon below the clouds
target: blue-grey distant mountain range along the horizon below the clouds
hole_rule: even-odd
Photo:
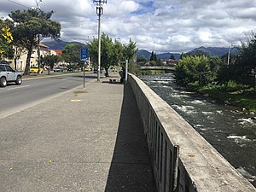
[[[58,40],[58,41],[46,41],[46,42],[42,42],[43,44],[46,44],[49,49],[64,49],[65,46],[67,44],[81,44],[79,42],[66,42],[66,41],[62,41],[62,40]],[[85,46],[85,44],[82,44]],[[222,56],[227,54],[229,51],[229,48],[224,48],[224,47],[199,47],[199,48],[195,48],[190,50],[189,52],[187,52],[186,54],[188,55],[193,55],[197,52],[201,52],[204,53],[205,55],[211,55],[211,56]],[[232,55],[237,55],[238,54],[238,50],[236,48],[230,48],[230,54]],[[151,55],[151,52],[149,52],[146,49],[138,49],[137,51],[137,57],[145,57],[146,59],[149,60]],[[157,54],[156,57],[158,59],[169,59],[171,55],[174,55],[175,59],[179,59],[180,58],[180,53],[162,53],[162,54]]]

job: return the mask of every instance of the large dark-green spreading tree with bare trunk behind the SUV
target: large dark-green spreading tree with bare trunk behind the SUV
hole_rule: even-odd
[[[60,38],[61,24],[50,20],[53,11],[45,13],[41,9],[16,10],[9,17],[15,22],[14,38],[27,50],[24,74],[29,74],[32,49],[38,45],[37,38]]]

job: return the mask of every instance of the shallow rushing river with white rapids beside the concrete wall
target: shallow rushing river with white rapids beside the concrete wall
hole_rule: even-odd
[[[140,79],[256,187],[256,119],[253,114],[185,90],[175,83],[172,73],[141,76]]]

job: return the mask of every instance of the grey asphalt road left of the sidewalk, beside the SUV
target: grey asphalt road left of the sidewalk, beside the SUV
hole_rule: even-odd
[[[85,84],[92,80],[96,80],[96,74],[86,73]],[[23,79],[21,85],[8,84],[7,87],[0,88],[0,119],[60,96],[83,84],[83,73]]]

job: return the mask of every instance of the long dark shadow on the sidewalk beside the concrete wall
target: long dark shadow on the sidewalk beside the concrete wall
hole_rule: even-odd
[[[129,84],[124,85],[119,130],[105,189],[125,191],[156,191],[143,122]]]

